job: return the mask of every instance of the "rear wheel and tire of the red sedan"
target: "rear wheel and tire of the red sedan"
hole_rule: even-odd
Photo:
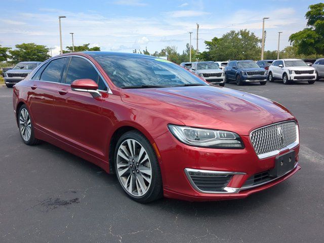
[[[27,145],[38,144],[40,140],[35,138],[33,121],[26,105],[22,105],[18,111],[18,128],[22,141]]]

